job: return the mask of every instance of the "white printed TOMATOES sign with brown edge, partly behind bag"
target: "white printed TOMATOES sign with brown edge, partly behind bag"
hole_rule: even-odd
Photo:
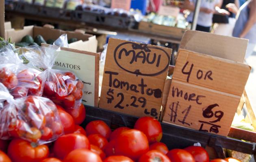
[[[42,44],[42,46],[48,46]],[[84,83],[82,103],[98,107],[99,55],[87,51],[61,47],[54,69],[69,70]]]

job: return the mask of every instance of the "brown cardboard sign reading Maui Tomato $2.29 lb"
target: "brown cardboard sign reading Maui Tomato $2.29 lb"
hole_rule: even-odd
[[[100,108],[159,119],[171,49],[110,38]]]

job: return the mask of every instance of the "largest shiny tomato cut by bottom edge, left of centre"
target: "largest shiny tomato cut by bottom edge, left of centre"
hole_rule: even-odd
[[[88,149],[76,149],[71,151],[63,162],[102,162],[100,156]]]

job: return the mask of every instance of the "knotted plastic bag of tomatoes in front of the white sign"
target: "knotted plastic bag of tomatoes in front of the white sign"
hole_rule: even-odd
[[[43,96],[65,109],[76,109],[82,103],[83,83],[73,72],[52,69],[60,47],[26,47],[24,57],[35,67],[44,69]]]

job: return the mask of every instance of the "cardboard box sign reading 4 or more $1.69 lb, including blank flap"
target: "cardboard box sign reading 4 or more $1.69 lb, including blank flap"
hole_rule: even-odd
[[[163,122],[227,136],[251,70],[243,64],[247,43],[186,31]]]

